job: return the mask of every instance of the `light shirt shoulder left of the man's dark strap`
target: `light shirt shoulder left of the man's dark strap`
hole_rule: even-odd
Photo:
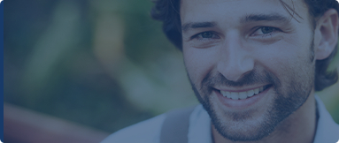
[[[166,118],[166,114],[152,117],[141,123],[128,126],[118,132],[114,132],[101,143],[155,143],[160,137],[161,126]]]

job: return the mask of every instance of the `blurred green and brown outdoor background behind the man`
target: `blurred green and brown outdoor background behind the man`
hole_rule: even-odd
[[[99,142],[196,104],[181,51],[150,19],[152,5],[6,0],[4,142]],[[331,69],[338,65],[337,55]],[[339,84],[317,94],[339,123]]]

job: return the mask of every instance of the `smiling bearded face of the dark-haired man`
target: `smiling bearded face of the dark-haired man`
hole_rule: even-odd
[[[308,10],[301,0],[284,2],[301,18],[279,0],[181,0],[189,79],[227,139],[266,137],[312,92]]]

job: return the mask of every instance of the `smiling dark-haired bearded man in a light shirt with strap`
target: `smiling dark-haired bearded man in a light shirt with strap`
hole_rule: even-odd
[[[152,16],[182,50],[202,106],[186,119],[171,113],[135,124],[104,143],[335,143],[339,126],[314,92],[338,79],[327,72],[338,10],[335,0],[158,0]],[[185,120],[187,129],[178,125]]]

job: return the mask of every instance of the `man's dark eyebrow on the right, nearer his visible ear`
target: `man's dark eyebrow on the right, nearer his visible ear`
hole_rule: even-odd
[[[256,22],[256,21],[279,21],[279,22],[289,23],[290,19],[279,13],[250,14],[250,15],[244,16],[243,19],[240,19],[240,23],[249,23],[249,22]]]

